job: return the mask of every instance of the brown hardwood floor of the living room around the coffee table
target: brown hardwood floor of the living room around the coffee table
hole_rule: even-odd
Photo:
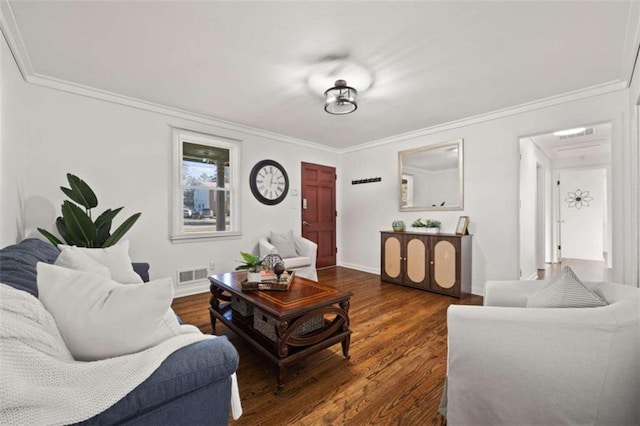
[[[446,311],[451,304],[482,304],[380,281],[347,268],[318,272],[319,280],[353,292],[351,359],[339,344],[288,369],[274,395],[273,365],[224,325],[216,325],[238,349],[238,383],[244,414],[232,425],[428,425],[437,413],[447,362]],[[209,294],[176,299],[185,323],[211,333]]]

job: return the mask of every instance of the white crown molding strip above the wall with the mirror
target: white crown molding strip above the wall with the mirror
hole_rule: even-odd
[[[616,92],[619,90],[624,90],[626,88],[627,88],[626,81],[619,81],[619,80],[610,81],[607,83],[598,84],[595,86],[587,87],[580,90],[575,90],[575,91],[564,93],[561,95],[550,96],[548,98],[527,102],[524,104],[509,107],[509,108],[504,108],[504,109],[500,109],[492,112],[478,114],[478,115],[463,118],[460,120],[449,121],[447,123],[437,124],[435,126],[425,127],[419,130],[413,130],[411,132],[390,136],[388,138],[377,139],[371,142],[365,142],[356,146],[344,148],[340,150],[340,153],[346,154],[350,152],[362,151],[364,149],[375,148],[382,145],[399,143],[407,139],[415,139],[421,136],[427,136],[434,133],[440,133],[447,130],[457,129],[460,127],[471,126],[473,124],[479,124],[487,121],[497,120],[500,118],[522,114],[525,112],[535,111],[538,109],[548,108],[555,105],[575,102],[575,101],[590,98],[593,96],[599,96],[599,95],[604,95],[611,92]]]

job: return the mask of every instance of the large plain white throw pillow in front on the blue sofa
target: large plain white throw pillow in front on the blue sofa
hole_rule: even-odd
[[[99,275],[39,262],[38,298],[76,360],[131,354],[181,334],[170,309],[171,278],[122,285]]]

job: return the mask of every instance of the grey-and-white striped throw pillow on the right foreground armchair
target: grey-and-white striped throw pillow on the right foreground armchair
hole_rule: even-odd
[[[607,301],[587,288],[573,270],[565,266],[560,278],[527,297],[527,308],[592,308]]]

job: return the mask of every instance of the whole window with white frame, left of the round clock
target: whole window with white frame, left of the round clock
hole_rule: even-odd
[[[238,141],[174,129],[172,241],[240,235]]]

